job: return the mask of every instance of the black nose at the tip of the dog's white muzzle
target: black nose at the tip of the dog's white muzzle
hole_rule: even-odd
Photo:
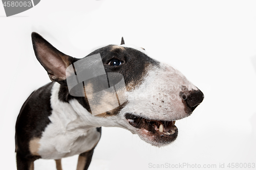
[[[186,98],[187,106],[190,107],[193,110],[196,109],[196,107],[202,103],[204,100],[204,94],[201,90],[193,90],[188,93],[188,96]]]

